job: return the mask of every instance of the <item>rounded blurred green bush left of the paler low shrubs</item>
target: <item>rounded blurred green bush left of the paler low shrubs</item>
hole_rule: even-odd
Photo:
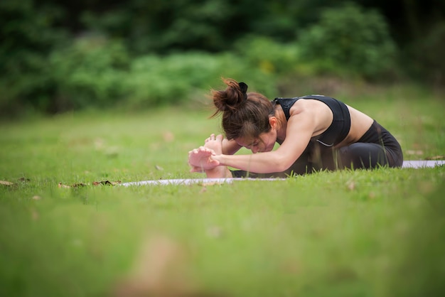
[[[122,81],[129,68],[129,55],[122,43],[88,36],[77,38],[49,58],[56,92],[54,110],[106,106],[122,99]]]

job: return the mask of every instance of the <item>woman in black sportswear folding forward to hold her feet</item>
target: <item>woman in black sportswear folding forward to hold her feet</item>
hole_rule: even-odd
[[[213,117],[223,114],[225,139],[212,134],[204,146],[190,151],[191,172],[205,171],[208,178],[282,177],[402,166],[402,148],[395,137],[343,102],[321,95],[269,101],[259,93],[247,93],[244,82],[224,82],[225,90],[212,93]],[[273,151],[275,142],[280,146]],[[243,146],[253,154],[234,155]]]

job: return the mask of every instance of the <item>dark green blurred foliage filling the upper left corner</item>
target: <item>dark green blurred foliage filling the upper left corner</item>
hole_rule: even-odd
[[[48,55],[67,41],[55,26],[62,11],[36,9],[35,1],[0,1],[0,110],[17,112],[22,104],[43,109],[52,100],[53,75]]]

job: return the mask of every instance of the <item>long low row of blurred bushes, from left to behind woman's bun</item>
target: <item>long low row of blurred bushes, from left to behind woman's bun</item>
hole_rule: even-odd
[[[250,77],[263,92],[276,92],[267,70],[250,73],[252,68],[230,53],[149,54],[130,59],[122,42],[88,36],[55,51],[49,61],[57,86],[51,110],[107,107],[120,101],[131,108],[178,104],[202,97],[204,90],[220,84],[223,74]]]

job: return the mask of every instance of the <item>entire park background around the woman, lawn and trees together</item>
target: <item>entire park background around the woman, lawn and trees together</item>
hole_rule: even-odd
[[[221,77],[443,160],[444,53],[439,0],[0,0],[0,296],[445,296],[445,166],[122,186],[203,178]]]

